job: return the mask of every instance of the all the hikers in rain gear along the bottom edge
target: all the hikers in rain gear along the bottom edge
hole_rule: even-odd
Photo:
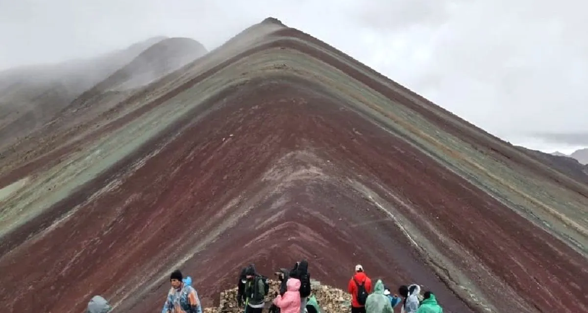
[[[296,262],[292,269],[281,268],[274,274],[280,288],[273,294],[269,313],[323,313],[312,294],[308,261]],[[192,287],[190,277],[183,277],[181,271],[175,270],[169,281],[171,288],[161,313],[202,313],[198,292]],[[240,271],[237,287],[236,301],[243,313],[262,313],[270,289],[269,278],[258,274],[255,265],[250,264]],[[402,285],[398,294],[392,294],[382,280],[377,280],[372,288],[372,280],[360,264],[355,266],[348,292],[351,295],[350,313],[393,313],[399,304],[402,304],[402,313],[443,313],[432,292],[420,295],[419,285]],[[95,296],[88,303],[87,312],[106,313],[111,309],[108,301]]]

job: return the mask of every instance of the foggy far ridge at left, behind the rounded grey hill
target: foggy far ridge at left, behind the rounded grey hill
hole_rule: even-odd
[[[0,147],[48,122],[82,92],[162,39],[149,38],[94,58],[0,72]]]

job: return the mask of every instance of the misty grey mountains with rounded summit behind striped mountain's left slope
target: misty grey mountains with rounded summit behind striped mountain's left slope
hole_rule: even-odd
[[[193,39],[157,36],[95,58],[0,72],[0,147],[48,123],[72,102],[146,85],[205,53]]]

